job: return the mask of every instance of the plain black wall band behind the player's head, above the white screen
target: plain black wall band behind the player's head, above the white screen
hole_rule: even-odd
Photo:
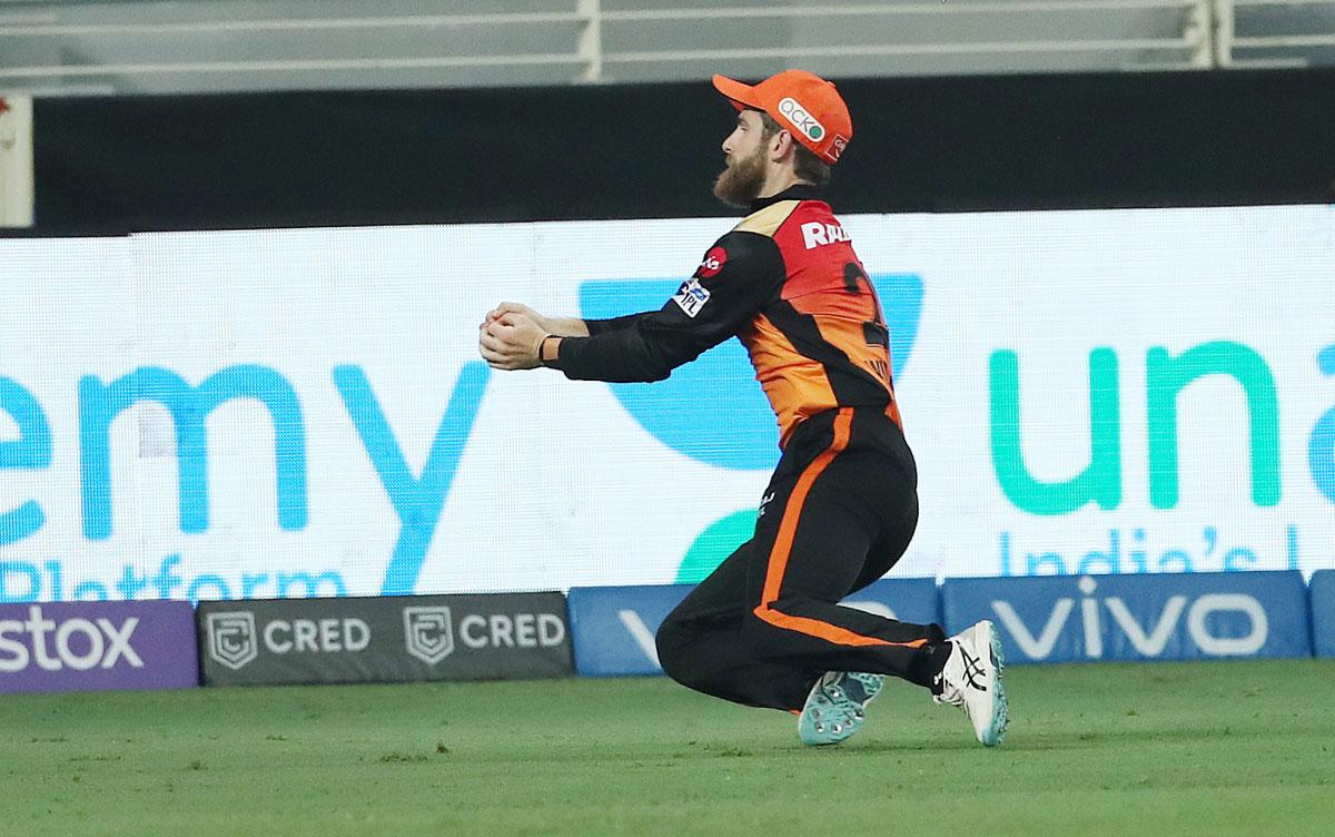
[[[840,83],[840,212],[1314,203],[1335,69]],[[37,232],[726,215],[690,84],[43,99]]]

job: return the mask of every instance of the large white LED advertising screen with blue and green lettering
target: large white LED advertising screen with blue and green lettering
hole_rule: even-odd
[[[918,459],[905,575],[1335,567],[1335,208],[848,216]],[[0,601],[693,581],[774,419],[493,372],[499,300],[657,308],[721,219],[0,240]]]

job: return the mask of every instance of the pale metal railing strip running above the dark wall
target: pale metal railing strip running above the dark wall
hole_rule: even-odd
[[[1335,0],[680,1],[527,0],[533,8],[434,15],[382,1],[367,16],[370,4],[328,0],[0,0],[0,89],[598,83],[698,77],[706,65],[736,75],[792,64],[830,75],[1214,68],[1311,63],[1335,48],[1335,24],[1254,31],[1252,15],[1335,13]],[[1306,52],[1286,53],[1295,49]]]

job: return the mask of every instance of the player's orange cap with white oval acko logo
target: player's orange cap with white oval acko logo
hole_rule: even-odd
[[[754,87],[716,75],[714,87],[738,111],[750,107],[769,113],[826,163],[838,163],[853,139],[853,117],[834,84],[805,69],[785,69]]]

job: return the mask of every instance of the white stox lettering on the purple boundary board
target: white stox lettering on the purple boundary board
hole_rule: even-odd
[[[104,618],[56,622],[33,605],[25,621],[0,619],[0,671],[23,671],[33,662],[45,671],[111,669],[120,661],[142,669],[144,661],[129,643],[136,627],[138,617],[119,625]]]

